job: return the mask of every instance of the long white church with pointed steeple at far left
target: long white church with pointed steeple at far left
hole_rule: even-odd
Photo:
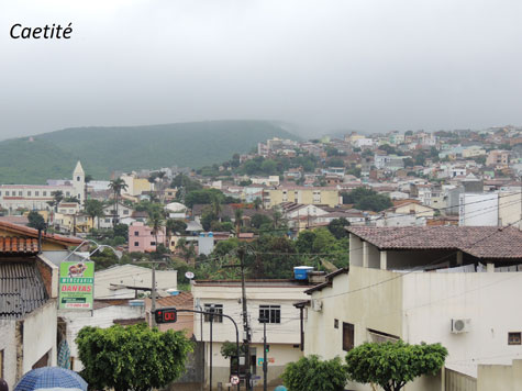
[[[70,180],[48,180],[47,185],[0,185],[0,206],[10,214],[19,209],[51,210],[47,202],[53,201],[55,191],[62,191],[64,198],[76,197],[80,205],[84,204],[86,175],[80,161],[76,164]]]

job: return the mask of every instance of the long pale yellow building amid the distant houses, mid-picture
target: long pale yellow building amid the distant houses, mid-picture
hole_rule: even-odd
[[[306,205],[329,205],[341,204],[337,188],[332,187],[281,187],[277,189],[266,189],[263,191],[263,204],[265,209],[274,208],[282,202],[296,202]]]

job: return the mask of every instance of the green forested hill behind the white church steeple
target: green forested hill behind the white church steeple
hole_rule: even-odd
[[[76,160],[95,179],[108,179],[113,170],[198,168],[246,153],[271,137],[297,138],[268,121],[66,129],[0,142],[0,183],[69,178]]]

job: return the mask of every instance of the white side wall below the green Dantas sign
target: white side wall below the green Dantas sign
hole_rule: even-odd
[[[49,300],[23,320],[23,373],[46,353],[49,366],[56,366],[56,300]]]

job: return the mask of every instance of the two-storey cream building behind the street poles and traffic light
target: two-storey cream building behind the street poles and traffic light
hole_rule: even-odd
[[[267,316],[266,324],[267,344],[269,345],[268,358],[268,384],[280,384],[279,379],[285,367],[297,361],[301,356],[300,310],[293,303],[307,300],[307,283],[298,283],[292,280],[251,280],[246,282],[246,298],[248,305],[248,321],[252,333],[251,344],[251,372],[263,378],[263,323],[259,317]],[[216,313],[230,315],[240,328],[240,342],[244,337],[242,321],[242,290],[241,282],[233,280],[220,281],[195,281],[192,284],[195,308],[204,311],[214,306]],[[201,315],[195,315],[193,333],[200,340]],[[209,381],[210,362],[210,320],[203,316],[203,336],[206,354],[206,379]],[[232,322],[225,317],[216,317],[213,322],[212,333],[212,387],[218,382],[227,383],[231,373],[231,359],[224,358],[220,349],[223,343],[235,343],[235,328]],[[242,370],[243,375],[243,370]],[[259,381],[259,384],[262,381]]]

